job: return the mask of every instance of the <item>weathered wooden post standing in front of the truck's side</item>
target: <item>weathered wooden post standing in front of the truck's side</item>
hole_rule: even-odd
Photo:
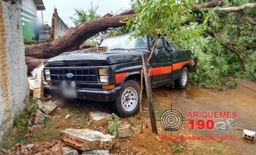
[[[155,110],[154,110],[154,105],[153,105],[151,82],[150,82],[150,78],[149,78],[149,65],[147,63],[147,55],[146,54],[142,55],[142,61],[143,61],[143,69],[144,69],[144,73],[145,73],[144,75],[145,75],[147,97],[148,97],[148,102],[149,102],[149,114],[150,114],[152,132],[158,134],[157,126],[156,126]]]

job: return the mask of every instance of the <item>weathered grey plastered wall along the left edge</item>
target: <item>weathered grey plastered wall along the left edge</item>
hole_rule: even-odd
[[[29,98],[21,11],[0,1],[0,141]]]

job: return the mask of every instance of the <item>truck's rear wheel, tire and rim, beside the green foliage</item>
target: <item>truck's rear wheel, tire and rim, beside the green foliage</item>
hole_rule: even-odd
[[[187,67],[183,67],[179,78],[174,81],[174,85],[176,89],[185,89],[188,81],[188,69]]]

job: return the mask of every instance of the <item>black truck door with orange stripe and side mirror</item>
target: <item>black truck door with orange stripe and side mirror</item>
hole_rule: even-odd
[[[164,45],[163,48],[156,49],[158,50],[157,55],[153,54],[153,78],[152,78],[152,87],[158,87],[161,85],[166,85],[171,81],[171,71],[172,71],[172,61],[171,55],[166,50],[165,40],[163,38],[159,39]],[[152,74],[152,73],[151,73]]]

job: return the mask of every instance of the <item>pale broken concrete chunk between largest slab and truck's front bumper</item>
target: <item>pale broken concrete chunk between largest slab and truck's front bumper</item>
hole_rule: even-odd
[[[89,114],[89,124],[93,124],[94,126],[104,125],[111,119],[112,115],[105,112],[94,111]]]

